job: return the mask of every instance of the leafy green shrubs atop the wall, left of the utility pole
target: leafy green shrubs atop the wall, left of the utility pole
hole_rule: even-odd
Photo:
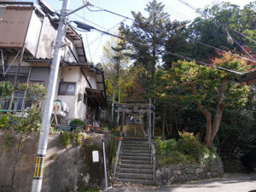
[[[0,129],[15,132],[40,131],[42,104],[46,94],[44,85],[23,83],[18,84],[17,89],[25,91],[24,103],[29,107],[22,112],[14,112],[9,107],[9,112],[0,113]],[[1,82],[0,90],[2,90],[0,96],[2,102],[7,101],[11,105],[15,87],[9,82]]]

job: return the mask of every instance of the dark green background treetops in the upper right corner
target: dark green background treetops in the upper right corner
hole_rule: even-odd
[[[255,40],[251,40],[256,37],[256,15],[253,12],[255,6],[256,2],[254,1],[243,8],[232,3],[219,3],[206,9],[199,9],[198,12],[201,15],[195,18],[186,29],[176,32],[187,39],[180,38],[177,44],[174,43],[172,37],[167,41],[166,61],[175,60],[172,55],[168,55],[168,51],[211,61],[218,53],[203,44],[218,49],[232,50],[253,60],[247,53],[256,54]],[[194,40],[202,44],[198,44]],[[255,55],[254,58],[256,58]],[[172,62],[167,62],[166,65],[170,67]]]

